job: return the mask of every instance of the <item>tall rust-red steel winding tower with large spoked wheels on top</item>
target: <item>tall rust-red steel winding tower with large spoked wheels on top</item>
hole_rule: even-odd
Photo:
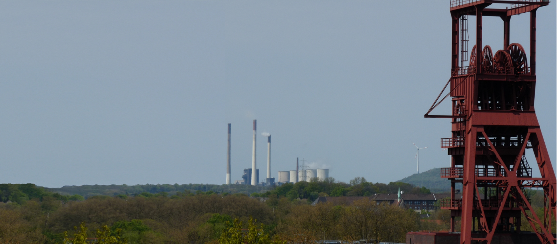
[[[452,197],[443,199],[441,208],[451,210],[451,232],[455,217],[461,217],[462,244],[491,243],[496,233],[520,233],[521,225],[530,225],[541,243],[556,243],[551,233],[556,216],[555,173],[534,109],[536,10],[548,4],[545,0],[451,0],[451,78],[443,88],[449,92],[439,101],[442,91],[424,117],[451,118],[452,135],[441,139],[441,147],[448,149],[452,166],[442,168],[441,177],[451,181]],[[509,33],[511,17],[528,13],[529,58],[521,44],[510,42]],[[473,16],[476,44],[466,60],[467,19]],[[499,51],[482,46],[483,16],[502,19]],[[469,65],[463,66],[464,61]],[[448,97],[451,115],[429,114]],[[527,160],[526,150],[535,159]],[[532,176],[531,166],[541,177]],[[455,198],[455,183],[462,183],[462,198]],[[543,188],[543,216],[531,206],[526,189],[532,187]]]

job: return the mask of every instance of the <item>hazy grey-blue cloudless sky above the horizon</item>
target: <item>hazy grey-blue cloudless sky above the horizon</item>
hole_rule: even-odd
[[[535,104],[553,161],[556,6],[538,10]],[[502,27],[484,17],[494,52]],[[421,172],[449,167],[449,120],[423,117],[450,76],[449,1],[2,1],[0,33],[0,183],[223,184],[227,123],[241,180],[252,119],[260,179],[262,132],[272,177],[299,157],[397,181],[412,142]],[[528,38],[513,16],[511,43]]]

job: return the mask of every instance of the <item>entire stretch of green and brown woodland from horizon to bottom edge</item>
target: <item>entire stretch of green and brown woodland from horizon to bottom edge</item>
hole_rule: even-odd
[[[412,210],[378,205],[368,199],[350,206],[330,202],[311,206],[311,201],[305,198],[312,192],[318,192],[317,195],[342,194],[354,189],[369,192],[365,189],[375,186],[361,178],[351,181],[351,191],[335,184],[285,184],[252,193],[253,196],[184,190],[173,195],[143,192],[86,199],[80,195],[60,195],[33,184],[0,184],[0,243],[77,244],[85,243],[85,238],[101,237],[113,242],[96,243],[216,244],[236,243],[230,241],[233,233],[245,232],[256,233],[255,237],[267,236],[266,241],[258,242],[261,244],[362,239],[405,242],[409,231],[448,230],[448,211],[435,211],[431,217],[421,219]],[[385,186],[398,190],[400,184],[405,183]],[[411,185],[400,186],[423,191]],[[532,204],[543,201],[542,194],[535,191],[529,194]]]

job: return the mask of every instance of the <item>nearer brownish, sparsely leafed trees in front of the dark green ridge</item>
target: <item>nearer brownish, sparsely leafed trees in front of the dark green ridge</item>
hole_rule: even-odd
[[[262,223],[267,235],[284,241],[302,236],[306,241],[401,241],[406,232],[417,231],[420,224],[414,211],[369,200],[354,206],[329,203],[313,207],[286,197],[264,201],[242,194],[97,196],[85,201],[3,203],[0,243],[63,243],[65,236],[83,236],[80,228],[74,228],[82,224],[90,230],[86,236],[95,237],[95,230],[106,226],[114,231],[113,236],[125,238],[127,243],[217,243],[230,223],[248,223],[250,218]]]

